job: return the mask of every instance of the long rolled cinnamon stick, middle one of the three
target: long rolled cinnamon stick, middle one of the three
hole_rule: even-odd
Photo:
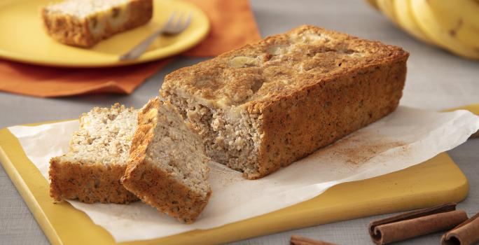
[[[373,221],[369,224],[369,234],[375,244],[389,244],[448,230],[466,220],[466,212],[456,210],[456,204],[449,203]]]

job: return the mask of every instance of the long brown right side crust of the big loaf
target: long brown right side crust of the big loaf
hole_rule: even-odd
[[[407,57],[359,69],[318,83],[263,107],[263,144],[258,179],[318,148],[379,120],[396,109],[405,81]]]

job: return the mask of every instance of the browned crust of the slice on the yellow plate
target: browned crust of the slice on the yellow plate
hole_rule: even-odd
[[[132,0],[128,4],[129,10],[125,23],[120,27],[112,27],[109,22],[106,22],[104,31],[99,35],[93,35],[89,28],[98,21],[95,15],[88,18],[76,18],[71,15],[49,13],[48,7],[46,7],[42,8],[41,16],[47,33],[55,40],[67,45],[90,48],[105,38],[145,25],[151,20],[153,16],[152,0]]]

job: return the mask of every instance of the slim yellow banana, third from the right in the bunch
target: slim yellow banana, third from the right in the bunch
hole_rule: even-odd
[[[433,44],[433,41],[431,41],[431,39],[429,39],[416,25],[416,22],[412,18],[412,13],[408,1],[393,0],[393,3],[394,13],[398,25],[402,27],[405,31],[407,31],[408,34],[410,34],[411,36],[414,36],[426,43]]]

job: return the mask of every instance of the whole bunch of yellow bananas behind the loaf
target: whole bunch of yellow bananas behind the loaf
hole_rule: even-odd
[[[411,36],[479,59],[479,1],[366,0]]]

